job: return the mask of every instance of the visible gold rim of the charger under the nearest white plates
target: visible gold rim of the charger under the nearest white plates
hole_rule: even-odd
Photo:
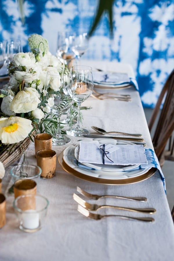
[[[87,181],[95,182],[95,183],[101,183],[101,184],[105,184],[105,185],[126,185],[126,184],[137,183],[137,182],[150,178],[151,176],[153,176],[153,174],[155,174],[155,171],[157,170],[156,168],[151,168],[145,174],[135,177],[135,178],[115,179],[115,180],[95,178],[95,177],[91,177],[91,176],[82,174],[82,173],[76,171],[75,169],[72,169],[71,167],[69,167],[63,160],[63,156],[64,156],[63,153],[64,153],[64,151],[62,151],[59,154],[59,163],[66,172],[68,172],[69,174],[71,174],[77,178],[81,178],[83,180],[87,180]]]

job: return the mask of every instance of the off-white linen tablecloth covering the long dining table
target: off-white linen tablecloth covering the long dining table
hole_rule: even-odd
[[[95,66],[101,68],[102,63]],[[127,69],[125,69],[126,65],[120,66],[131,73],[132,69],[129,65]],[[124,70],[121,71],[124,72]],[[90,97],[83,103],[84,106],[92,107],[90,110],[83,111],[84,127],[92,134],[95,133],[90,128],[92,125],[100,126],[108,131],[141,133],[147,147],[153,148],[139,93],[134,87],[117,92],[130,94],[132,102],[99,101]],[[79,139],[79,137],[72,137],[68,145]],[[53,149],[59,155],[68,145],[54,146]],[[27,151],[27,157],[30,163],[36,164],[33,143]],[[49,180],[41,179],[38,186],[39,194],[46,196],[50,201],[46,224],[40,231],[30,234],[20,231],[17,226],[12,207],[14,195],[8,194],[8,188],[12,185],[9,169],[6,170],[6,176],[3,178],[3,193],[7,198],[7,223],[0,231],[0,260],[173,260],[173,221],[158,171],[148,180],[136,184],[101,185],[66,173],[57,159],[56,176]],[[106,198],[98,200],[97,203],[127,207],[154,207],[157,212],[151,216],[155,218],[155,222],[134,222],[117,218],[90,220],[77,211],[77,203],[73,200],[73,193],[76,193],[77,186],[95,194],[145,196],[148,198],[147,202]],[[117,209],[102,209],[98,212],[149,216]]]

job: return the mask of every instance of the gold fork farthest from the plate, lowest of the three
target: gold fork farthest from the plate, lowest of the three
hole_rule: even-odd
[[[81,205],[78,205],[77,210],[84,216],[95,219],[95,220],[100,220],[102,218],[107,218],[107,217],[115,217],[115,218],[123,218],[123,219],[128,219],[128,220],[133,220],[133,221],[144,221],[144,222],[153,222],[155,221],[154,218],[147,218],[147,217],[129,217],[129,216],[120,216],[120,215],[99,215],[95,213],[89,212],[87,209],[82,207]]]

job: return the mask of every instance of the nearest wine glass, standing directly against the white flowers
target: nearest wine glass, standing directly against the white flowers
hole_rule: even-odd
[[[46,103],[50,111],[57,116],[57,132],[52,138],[53,145],[64,145],[70,142],[70,138],[62,136],[60,132],[60,116],[72,105],[74,88],[72,75],[68,70],[52,70],[46,75],[44,86],[46,99],[52,102]]]

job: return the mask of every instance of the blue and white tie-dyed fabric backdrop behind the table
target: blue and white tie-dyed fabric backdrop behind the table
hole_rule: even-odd
[[[18,0],[19,1],[19,0]],[[0,41],[20,38],[27,51],[30,34],[48,39],[56,54],[57,32],[88,32],[97,0],[24,0],[25,24],[16,0],[0,0]],[[114,38],[104,16],[82,59],[130,63],[136,72],[142,103],[154,107],[174,67],[174,0],[117,0],[113,6]]]

